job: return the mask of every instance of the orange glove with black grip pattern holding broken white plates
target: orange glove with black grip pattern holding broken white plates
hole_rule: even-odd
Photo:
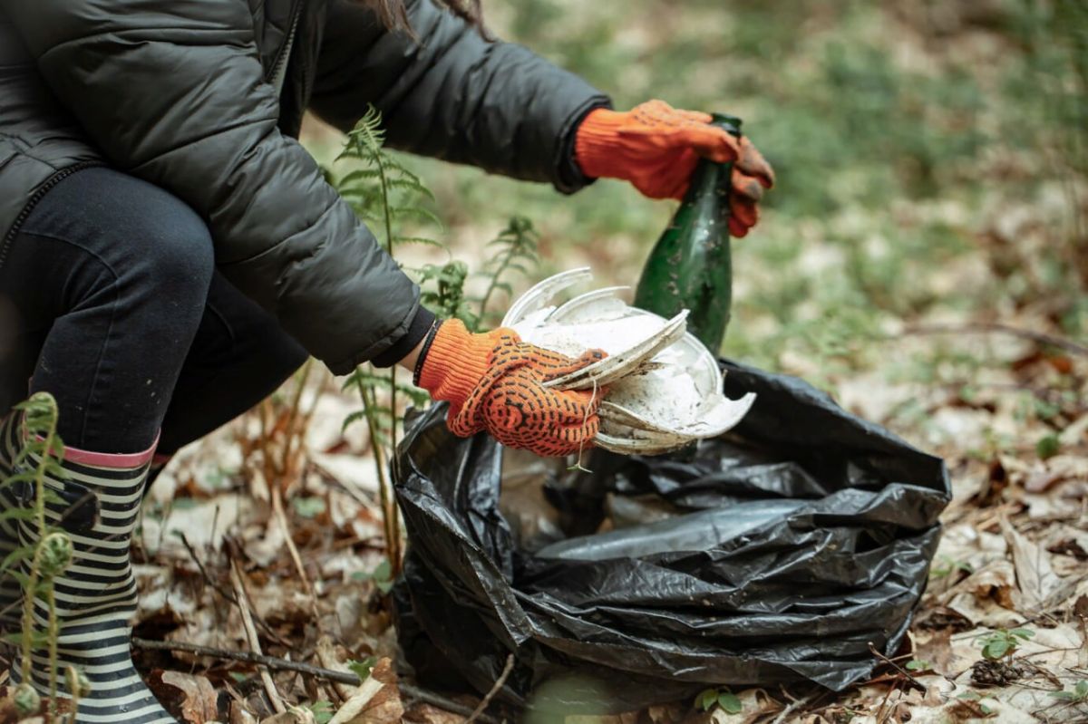
[[[455,435],[487,430],[503,445],[555,458],[592,447],[604,390],[560,391],[544,383],[604,357],[591,350],[572,360],[509,328],[474,335],[448,320],[423,350],[417,384],[449,402],[446,424]]]

